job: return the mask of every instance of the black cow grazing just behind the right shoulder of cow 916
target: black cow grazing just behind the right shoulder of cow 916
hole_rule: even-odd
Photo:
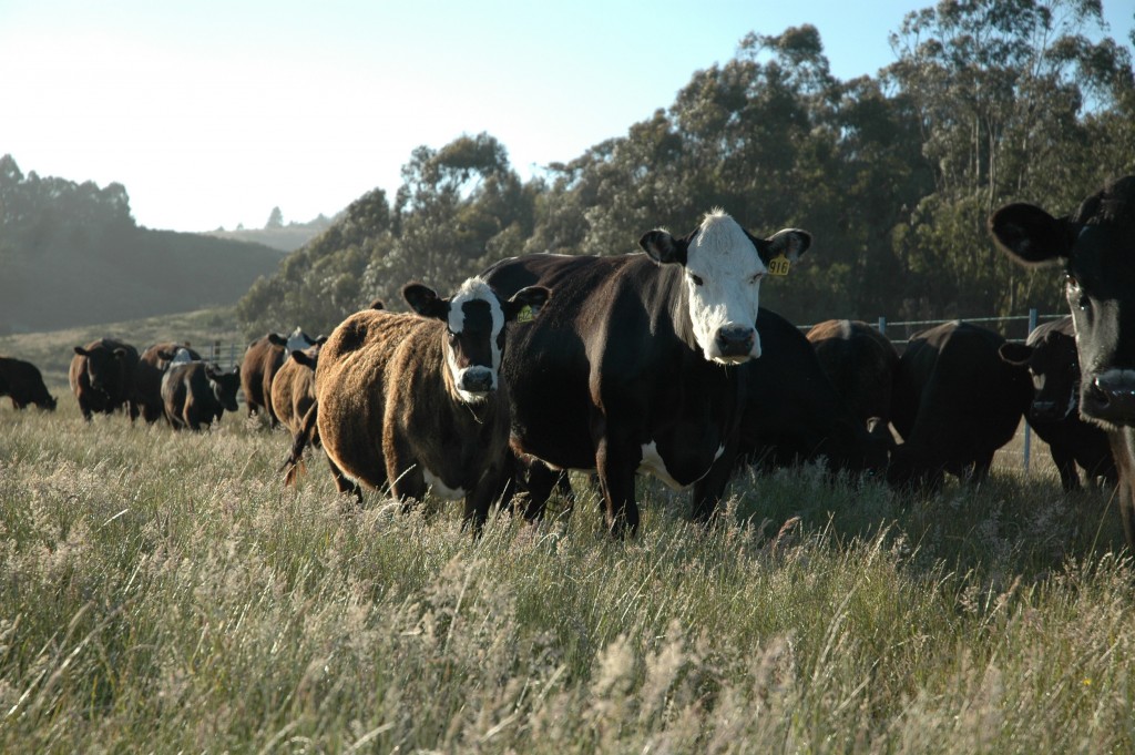
[[[741,458],[787,465],[824,456],[836,471],[885,470],[890,444],[872,437],[849,410],[808,338],[764,308],[757,333],[766,355],[741,367],[747,388]],[[890,389],[890,379],[886,385]]]

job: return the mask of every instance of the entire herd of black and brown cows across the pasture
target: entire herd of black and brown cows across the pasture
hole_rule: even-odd
[[[564,471],[587,470],[615,535],[638,529],[640,473],[690,489],[698,521],[745,464],[823,458],[933,490],[945,473],[984,479],[1025,417],[1066,489],[1077,465],[1118,484],[1135,544],[1135,177],[1062,218],[1002,208],[990,230],[1024,265],[1065,266],[1071,314],[1024,344],[960,321],[901,353],[855,320],[802,334],[759,288],[810,235],[762,238],[713,211],[686,236],[646,233],[637,254],[506,259],[447,297],[410,284],[410,313],[375,302],[329,336],[269,334],[232,372],[184,344],[140,356],[102,338],[75,347],[70,387],[86,419],[125,409],[195,430],[236,411],[239,387],[250,414],[292,434],[288,481],[318,447],[339,492],[463,498],[474,530],[498,501],[539,518]],[[0,395],[56,404],[14,359]]]

